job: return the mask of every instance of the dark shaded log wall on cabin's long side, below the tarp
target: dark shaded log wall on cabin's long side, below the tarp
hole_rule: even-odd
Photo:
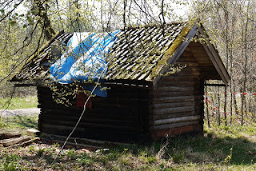
[[[69,107],[56,103],[52,91],[38,87],[41,108],[38,129],[42,133],[66,136],[82,113],[76,99],[68,97]],[[92,109],[86,109],[73,137],[108,141],[138,141],[148,136],[148,91],[129,87],[111,87],[108,97],[92,97]]]

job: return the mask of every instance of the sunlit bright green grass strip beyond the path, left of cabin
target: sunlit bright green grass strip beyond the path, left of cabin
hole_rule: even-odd
[[[6,109],[10,101],[10,97],[0,99],[0,109]],[[10,101],[8,109],[27,109],[37,108],[38,98],[37,96],[28,97],[13,97]]]

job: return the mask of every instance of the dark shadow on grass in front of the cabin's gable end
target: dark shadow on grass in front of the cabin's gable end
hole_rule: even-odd
[[[182,136],[170,139],[166,154],[177,163],[254,165],[255,145],[246,138]]]

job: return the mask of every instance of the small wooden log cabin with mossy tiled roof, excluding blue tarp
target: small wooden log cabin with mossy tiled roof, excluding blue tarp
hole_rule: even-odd
[[[16,86],[37,86],[42,133],[66,136],[82,113],[83,93],[66,95],[68,106],[54,101],[54,93],[74,92],[86,83],[67,86],[49,76],[54,58],[62,54],[56,45],[65,47],[71,36],[57,34],[11,79],[18,82]],[[101,83],[109,88],[107,97],[91,97],[73,137],[145,141],[167,134],[202,133],[205,81],[222,80],[226,85],[230,81],[218,51],[198,24],[126,28],[108,55],[114,60]]]

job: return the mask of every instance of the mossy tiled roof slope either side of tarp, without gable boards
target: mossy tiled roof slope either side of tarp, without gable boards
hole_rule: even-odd
[[[153,82],[191,28],[186,22],[175,22],[120,31],[118,41],[108,54],[110,65],[105,79]],[[49,78],[49,67],[43,63],[53,55],[54,46],[65,45],[71,36],[72,34],[66,33],[56,35],[26,62],[12,81]]]

